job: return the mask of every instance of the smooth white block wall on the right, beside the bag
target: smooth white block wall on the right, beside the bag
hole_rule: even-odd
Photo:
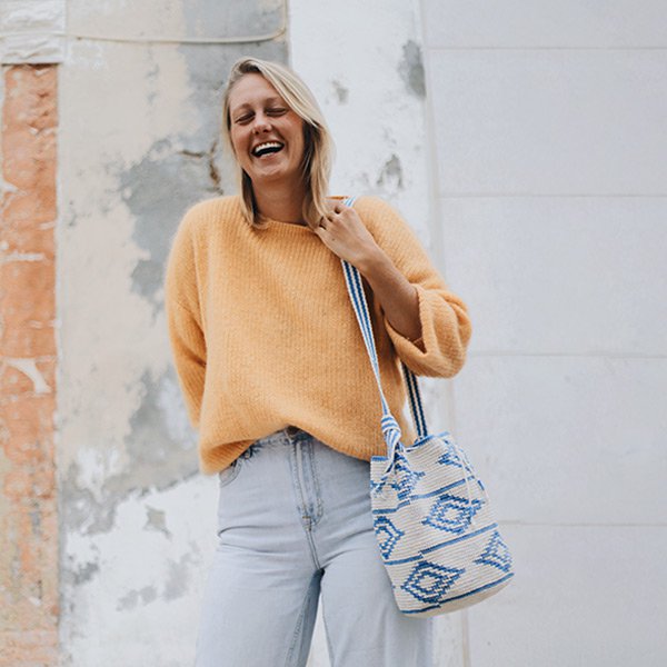
[[[459,440],[515,583],[466,665],[658,667],[667,638],[667,6],[425,0]]]

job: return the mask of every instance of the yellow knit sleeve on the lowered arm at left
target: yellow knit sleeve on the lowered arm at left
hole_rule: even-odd
[[[207,358],[192,238],[197,210],[198,207],[193,207],[181,220],[165,275],[165,310],[173,364],[190,424],[196,429],[199,428]]]

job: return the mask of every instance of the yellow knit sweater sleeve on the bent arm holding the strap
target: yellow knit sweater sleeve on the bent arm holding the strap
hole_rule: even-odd
[[[378,306],[396,354],[416,375],[455,376],[465,364],[472,334],[465,302],[449,290],[412,229],[392,207],[377,197],[365,197],[356,208],[376,242],[417,290],[421,325],[417,340],[398,332]]]

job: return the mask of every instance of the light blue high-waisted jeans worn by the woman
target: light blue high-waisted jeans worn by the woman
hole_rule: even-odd
[[[432,667],[372,529],[370,464],[288,427],[219,472],[219,542],[197,667],[302,667],[321,594],[331,667]]]

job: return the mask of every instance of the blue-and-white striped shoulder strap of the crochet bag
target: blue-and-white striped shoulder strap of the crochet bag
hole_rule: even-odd
[[[352,206],[355,199],[356,197],[347,198],[345,200],[346,206]],[[347,289],[350,296],[350,300],[355,309],[355,315],[357,316],[359,328],[361,329],[361,336],[364,338],[366,350],[368,352],[376,382],[378,385],[378,390],[380,392],[380,400],[382,404],[381,428],[382,435],[388,447],[388,459],[390,467],[394,461],[394,454],[396,447],[400,442],[401,431],[400,427],[398,426],[398,422],[396,421],[396,419],[391,415],[391,411],[389,410],[387,399],[385,398],[385,392],[382,391],[382,384],[380,380],[380,367],[372,335],[372,326],[370,322],[368,303],[366,302],[366,295],[364,293],[364,287],[361,283],[361,275],[359,273],[359,270],[347,260],[341,259],[340,262],[342,265],[342,271]],[[417,436],[419,438],[426,438],[428,436],[428,427],[426,425],[424,406],[421,402],[421,394],[419,391],[419,384],[417,382],[417,377],[402,361],[401,367],[408,387],[408,398],[410,402],[410,414],[412,416],[412,424],[415,425],[415,429],[417,430]]]

